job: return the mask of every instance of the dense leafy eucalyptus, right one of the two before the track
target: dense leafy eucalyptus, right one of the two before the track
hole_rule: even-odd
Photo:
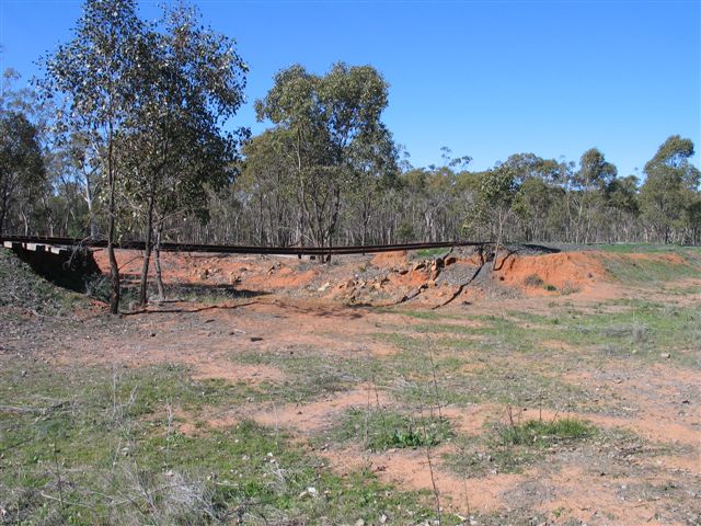
[[[248,66],[233,39],[202,25],[198,12],[184,3],[164,8],[142,44],[139,104],[124,139],[131,174],[126,195],[145,224],[145,304],[154,227],[158,244],[166,220],[186,215],[206,220],[207,188],[220,188],[233,178],[248,130],[225,133],[221,126],[243,102]],[[162,296],[159,270],[157,262]]]

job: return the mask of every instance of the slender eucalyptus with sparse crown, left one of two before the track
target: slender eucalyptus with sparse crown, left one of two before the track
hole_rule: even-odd
[[[65,102],[64,126],[94,141],[92,151],[106,182],[110,309],[119,308],[119,268],[114,243],[117,233],[117,183],[122,176],[120,135],[139,103],[135,89],[140,76],[145,27],[135,0],[87,0],[73,39],[46,57],[45,93]]]

